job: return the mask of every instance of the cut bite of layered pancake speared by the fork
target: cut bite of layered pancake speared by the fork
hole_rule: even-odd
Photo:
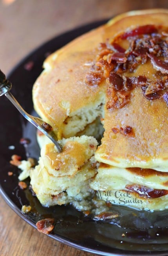
[[[83,187],[87,193],[89,179],[97,172],[96,139],[83,135],[59,143],[61,153],[53,143],[42,147],[39,164],[30,173],[32,189],[44,206],[71,202]]]

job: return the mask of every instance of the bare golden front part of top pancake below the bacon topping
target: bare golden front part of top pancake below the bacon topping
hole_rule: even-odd
[[[132,92],[132,99],[124,108],[106,110],[105,133],[95,158],[121,168],[167,172],[168,108],[163,99],[148,101],[140,90]],[[126,134],[128,128],[134,131],[134,137]]]

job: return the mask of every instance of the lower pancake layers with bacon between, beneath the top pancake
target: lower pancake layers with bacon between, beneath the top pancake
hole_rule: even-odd
[[[168,173],[101,163],[90,187],[107,203],[145,210],[168,209]]]

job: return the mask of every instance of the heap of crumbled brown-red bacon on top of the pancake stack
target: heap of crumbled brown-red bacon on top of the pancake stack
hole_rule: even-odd
[[[107,109],[123,108],[130,102],[131,91],[141,87],[147,100],[161,98],[161,90],[168,88],[168,29],[162,26],[147,24],[117,35],[112,42],[98,46],[98,55],[85,82],[98,85],[106,79]],[[122,41],[127,41],[124,49]],[[154,80],[145,76],[125,77],[124,72],[135,69],[150,61],[157,70]],[[163,99],[165,96],[163,97]]]

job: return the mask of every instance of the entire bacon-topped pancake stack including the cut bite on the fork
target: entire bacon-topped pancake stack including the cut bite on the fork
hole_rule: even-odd
[[[34,109],[63,152],[38,134],[30,177],[44,206],[97,195],[106,207],[168,208],[167,20],[166,9],[124,13],[45,60]]]

